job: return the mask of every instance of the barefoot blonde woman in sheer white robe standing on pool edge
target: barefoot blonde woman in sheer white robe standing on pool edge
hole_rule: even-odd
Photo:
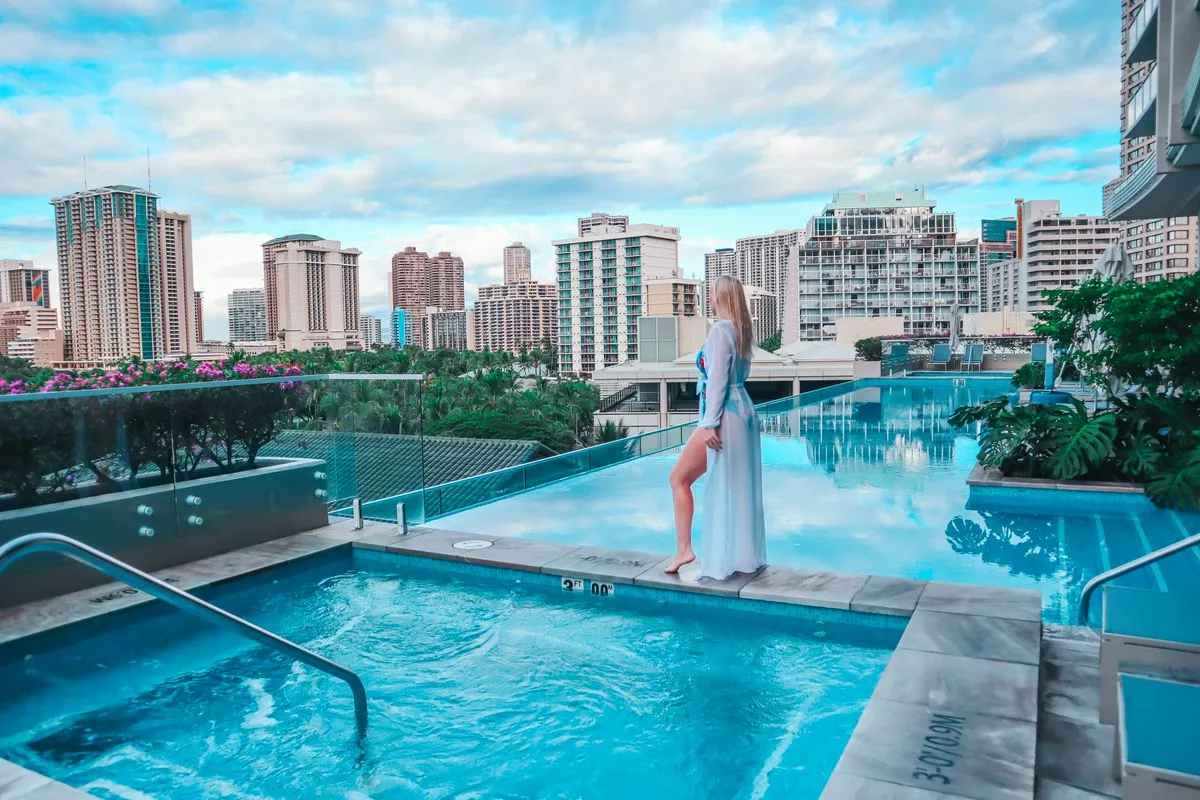
[[[758,416],[746,395],[754,331],[742,282],[721,276],[713,287],[716,324],[696,355],[700,422],[671,470],[676,557],[667,572],[696,560],[691,549],[691,485],[708,471],[701,521],[700,577],[724,579],[767,563],[762,515]]]

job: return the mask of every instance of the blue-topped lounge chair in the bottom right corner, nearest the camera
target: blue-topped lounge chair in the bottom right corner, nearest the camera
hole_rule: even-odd
[[[1126,800],[1200,799],[1200,686],[1121,675],[1112,759]]]

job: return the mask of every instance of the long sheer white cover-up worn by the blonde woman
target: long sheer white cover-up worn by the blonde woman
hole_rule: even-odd
[[[745,389],[750,361],[738,353],[732,323],[713,326],[696,363],[698,426],[716,428],[721,439],[720,451],[708,451],[698,577],[724,579],[767,564],[758,416]]]

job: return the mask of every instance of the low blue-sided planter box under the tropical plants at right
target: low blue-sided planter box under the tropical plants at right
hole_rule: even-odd
[[[1138,483],[1004,477],[998,469],[982,464],[976,464],[967,475],[967,507],[972,510],[1094,513],[1154,507]]]

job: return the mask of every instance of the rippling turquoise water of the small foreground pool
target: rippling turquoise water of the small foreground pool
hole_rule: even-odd
[[[817,798],[899,637],[386,558],[198,593],[359,672],[365,747],[341,681],[143,607],[0,650],[0,757],[131,800]]]

